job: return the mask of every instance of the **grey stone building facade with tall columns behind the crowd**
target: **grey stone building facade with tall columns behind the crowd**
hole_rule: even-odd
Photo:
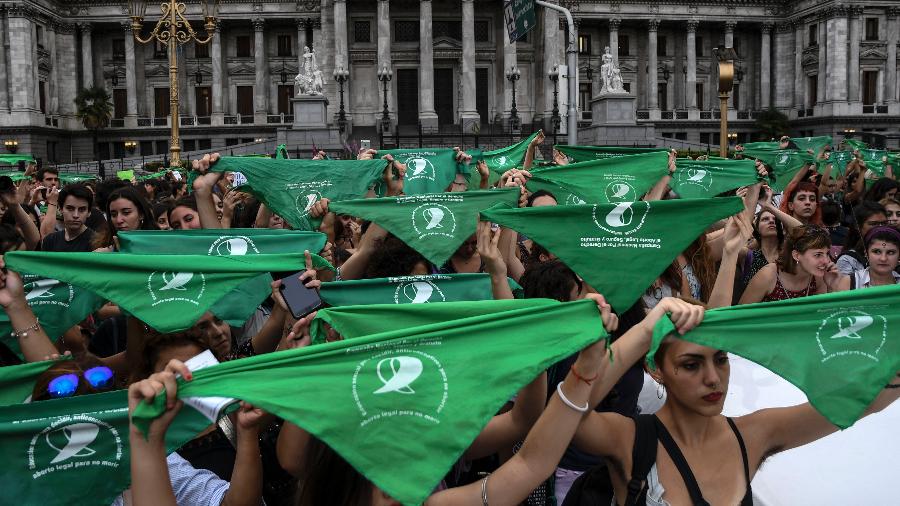
[[[759,111],[787,114],[800,135],[895,133],[900,125],[900,4],[854,0],[562,0],[575,18],[579,125],[591,125],[605,47],[636,97],[646,144],[717,142],[713,48],[737,50],[730,130],[754,131]],[[149,2],[145,33],[155,22]],[[188,3],[200,28],[199,7]],[[0,138],[49,162],[88,160],[90,134],[75,118],[81,87],[110,91],[114,118],[103,158],[168,150],[166,48],[131,36],[127,2],[0,0]],[[210,44],[179,50],[183,150],[271,139],[292,121],[293,77],[304,46],[326,76],[328,116],[340,96],[332,75],[349,71],[344,104],[351,139],[371,138],[384,104],[392,128],[482,134],[504,131],[516,106],[525,124],[549,128],[550,71],[565,64],[567,28],[537,9],[537,26],[510,43],[499,0],[222,0]],[[201,30],[202,31],[202,30]],[[506,78],[515,66],[520,79]],[[392,78],[379,81],[379,69]],[[565,114],[565,79],[558,83]],[[562,121],[563,126],[565,120]],[[334,126],[336,128],[336,126]],[[603,139],[600,140],[603,142]],[[297,146],[290,146],[294,149]],[[299,146],[306,150],[308,146]]]

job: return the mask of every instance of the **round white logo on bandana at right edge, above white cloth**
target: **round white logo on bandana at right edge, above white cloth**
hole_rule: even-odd
[[[858,309],[841,309],[822,320],[816,342],[822,362],[851,355],[878,362],[887,341],[887,319]]]

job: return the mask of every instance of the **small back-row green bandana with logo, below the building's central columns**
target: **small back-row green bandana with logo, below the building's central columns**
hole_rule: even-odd
[[[421,195],[445,191],[456,177],[456,152],[450,148],[381,149],[378,155],[392,155],[406,164],[403,193]]]

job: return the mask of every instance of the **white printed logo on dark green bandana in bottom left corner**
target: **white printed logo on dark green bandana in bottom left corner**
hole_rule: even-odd
[[[119,431],[102,420],[83,414],[57,419],[35,434],[28,447],[28,470],[32,472],[32,479],[86,467],[115,469],[121,460]]]

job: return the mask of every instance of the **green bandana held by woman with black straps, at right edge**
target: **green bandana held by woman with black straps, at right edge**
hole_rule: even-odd
[[[900,370],[898,325],[900,286],[884,286],[712,309],[677,337],[769,369],[846,429]],[[649,364],[673,331],[668,319],[657,323]]]

